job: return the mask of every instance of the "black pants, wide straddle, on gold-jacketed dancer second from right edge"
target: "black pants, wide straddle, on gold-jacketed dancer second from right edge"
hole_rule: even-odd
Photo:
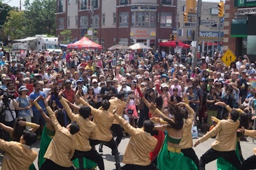
[[[212,160],[218,159],[218,157],[223,157],[223,159],[227,160],[230,164],[236,167],[237,170],[241,170],[241,162],[237,158],[236,152],[234,150],[228,152],[220,152],[214,149],[209,149],[207,152],[202,155],[199,162],[199,169],[205,169],[205,164],[208,164]]]

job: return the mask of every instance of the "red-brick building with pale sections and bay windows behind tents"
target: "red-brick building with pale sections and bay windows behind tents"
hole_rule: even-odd
[[[70,29],[72,39],[80,39],[93,29],[93,41],[105,50],[138,42],[156,49],[161,39],[170,39],[175,16],[177,0],[58,0],[57,35]]]

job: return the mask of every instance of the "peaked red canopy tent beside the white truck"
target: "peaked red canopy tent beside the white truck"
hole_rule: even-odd
[[[67,48],[75,48],[75,49],[81,49],[81,48],[102,48],[101,45],[98,45],[97,43],[94,43],[90,39],[86,38],[84,36],[82,39],[79,41],[76,41],[76,43],[72,43],[70,45],[67,45]]]

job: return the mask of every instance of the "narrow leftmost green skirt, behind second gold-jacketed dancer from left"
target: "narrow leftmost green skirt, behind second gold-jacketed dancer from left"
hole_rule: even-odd
[[[49,129],[47,129],[46,125],[44,126],[43,132],[42,132],[42,136],[41,136],[41,142],[40,142],[40,150],[38,153],[38,167],[40,169],[40,167],[42,166],[42,164],[44,164],[44,154],[48,148],[48,146],[51,143],[52,140],[52,136],[54,136],[55,131],[51,131]]]

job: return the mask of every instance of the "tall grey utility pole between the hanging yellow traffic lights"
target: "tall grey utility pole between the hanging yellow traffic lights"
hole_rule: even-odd
[[[202,9],[202,0],[198,0],[197,11],[196,11],[195,37],[194,37],[194,41],[196,41],[196,47],[193,53],[194,57],[193,57],[193,63],[192,63],[192,71],[194,71],[197,65],[197,50],[198,50],[198,37],[199,37],[199,31],[200,31],[201,9]]]

